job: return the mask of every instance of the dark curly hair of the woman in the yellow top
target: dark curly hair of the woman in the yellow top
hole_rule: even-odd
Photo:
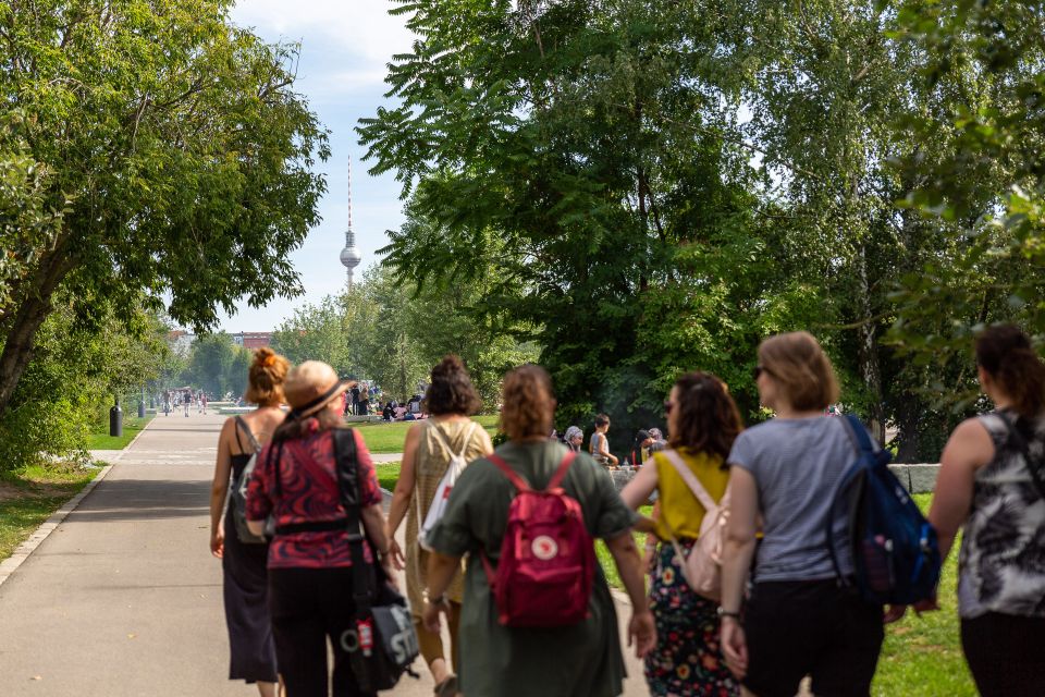
[[[672,448],[686,448],[725,460],[733,442],[743,430],[737,404],[726,383],[710,372],[687,372],[675,381],[678,389],[678,432],[671,435]]]

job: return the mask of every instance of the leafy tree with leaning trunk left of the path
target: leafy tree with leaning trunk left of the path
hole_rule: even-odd
[[[144,293],[199,329],[243,296],[299,292],[287,253],[318,220],[327,133],[293,90],[295,47],[232,25],[230,7],[0,4],[0,97],[49,172],[42,208],[64,210],[10,289],[0,411],[60,288],[88,322],[102,298],[127,314]]]

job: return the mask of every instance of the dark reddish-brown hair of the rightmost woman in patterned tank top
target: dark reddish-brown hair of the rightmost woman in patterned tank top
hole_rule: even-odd
[[[1020,416],[1034,418],[1045,408],[1045,364],[1016,325],[996,325],[976,338],[976,365],[994,378]]]

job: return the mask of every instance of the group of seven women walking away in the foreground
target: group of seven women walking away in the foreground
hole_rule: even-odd
[[[521,553],[502,558],[524,539],[512,537],[525,530],[520,511],[530,510],[518,499],[542,491],[542,500],[573,502],[566,510],[579,516],[585,546],[605,541],[631,603],[627,640],[644,661],[651,694],[791,697],[811,676],[816,695],[870,695],[884,624],[905,608],[870,603],[847,583],[855,573],[848,517],[832,502],[858,453],[847,420],[825,416],[839,400],[833,367],[806,332],[765,340],[757,357],[760,401],[774,418],[746,429],[721,379],[686,374],[664,402],[666,442],[650,449],[643,438],[646,463],[620,493],[597,461],[608,418],[597,418],[601,438],[590,454],[575,442],[582,433],[574,429],[565,443],[548,438],[555,398],[538,366],[504,378],[507,440],[496,450],[471,418],[480,403],[465,366],[453,356],[435,366],[425,405],[431,417],[406,436],[388,521],[366,444],[354,433],[367,563],[389,574],[405,571],[437,695],[622,693],[616,610],[598,564],[588,580],[570,586],[583,597],[568,624],[519,619],[540,589],[512,573],[516,567],[580,554],[579,568],[588,568],[583,550],[568,549],[577,538],[555,534],[525,538]],[[961,640],[979,690],[1036,695],[1045,680],[1038,644],[1045,638],[1045,365],[1015,327],[986,330],[976,342],[976,365],[996,408],[951,436],[930,522],[944,557],[964,526]],[[328,637],[333,694],[365,694],[337,641],[355,611],[334,453],[346,389],[324,364],[288,370],[285,359],[261,350],[248,393],[259,408],[222,430],[211,550],[225,573],[230,676],[256,682],[265,697],[276,694],[280,677],[291,697],[328,695]],[[283,400],[291,406],[285,416]],[[275,537],[251,546],[230,531],[234,510],[225,493],[259,447],[245,515],[255,533],[272,516]],[[453,468],[459,476],[450,488]],[[651,499],[653,514],[641,515]],[[722,516],[721,508],[728,511],[721,588],[698,592],[687,559],[705,516]],[[401,548],[395,536],[404,521]],[[644,561],[632,530],[648,533]],[[537,586],[557,583],[542,578]],[[934,610],[935,601],[914,609]]]

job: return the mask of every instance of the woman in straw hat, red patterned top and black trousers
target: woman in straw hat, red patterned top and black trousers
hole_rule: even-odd
[[[292,409],[258,454],[247,494],[247,521],[260,534],[270,514],[275,537],[269,546],[269,604],[280,673],[290,697],[362,695],[345,650],[356,631],[352,543],[337,478],[334,431],[342,423],[349,386],[325,363],[308,360],[287,375],[284,391]],[[388,571],[388,539],[381,489],[370,453],[358,431],[355,451],[359,518],[366,528],[366,563]],[[327,665],[327,640],[334,670]]]

